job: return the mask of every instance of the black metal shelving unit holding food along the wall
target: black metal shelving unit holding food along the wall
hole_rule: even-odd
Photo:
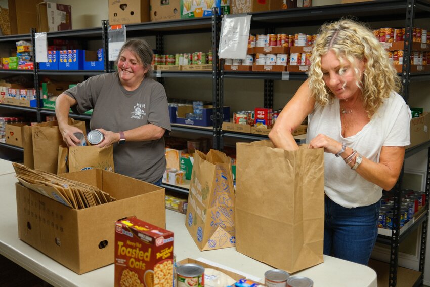
[[[339,15],[351,15],[357,17],[360,21],[366,22],[381,22],[381,21],[393,21],[393,20],[405,20],[405,27],[410,29],[413,27],[413,21],[415,18],[430,18],[430,1],[428,0],[379,0],[369,1],[361,3],[350,3],[340,5],[329,5],[319,6],[310,8],[297,8],[280,11],[268,11],[250,13],[252,15],[251,29],[265,29],[266,31],[275,31],[275,28],[280,27],[300,27],[300,26],[320,26],[327,20],[337,20]],[[251,79],[251,80],[264,80],[264,103],[265,106],[271,107],[273,105],[273,81],[274,80],[294,80],[303,81],[307,78],[304,73],[293,73],[293,72],[238,72],[238,71],[224,71],[219,65],[217,59],[217,49],[220,33],[220,24],[222,16],[212,16],[207,18],[195,18],[186,20],[174,20],[174,21],[163,21],[163,22],[147,22],[140,24],[126,25],[126,31],[128,37],[142,37],[142,36],[156,36],[156,44],[158,53],[164,51],[164,35],[171,34],[190,34],[190,33],[210,33],[212,52],[213,52],[213,67],[212,71],[159,71],[154,72],[161,82],[164,78],[212,78],[212,100],[213,100],[213,127],[202,128],[182,125],[172,125],[174,131],[196,133],[205,136],[212,136],[214,142],[214,148],[222,149],[223,138],[231,137],[236,139],[244,140],[261,140],[267,138],[266,136],[241,134],[234,132],[223,132],[222,126],[222,107],[224,105],[224,80],[235,80],[235,79]],[[304,22],[306,19],[306,22]],[[409,30],[410,31],[410,30]],[[84,40],[99,40],[102,39],[103,48],[105,48],[105,70],[102,71],[46,71],[38,70],[37,64],[34,71],[4,71],[0,70],[0,74],[33,74],[35,79],[35,87],[38,90],[38,83],[36,80],[38,75],[78,75],[78,76],[92,76],[104,72],[110,72],[110,63],[108,59],[107,49],[107,21],[102,21],[102,27],[91,28],[91,29],[80,29],[70,31],[59,31],[47,33],[48,38],[66,37],[69,39],[84,39]],[[402,69],[401,77],[404,85],[404,98],[408,100],[409,85],[420,81],[430,81],[430,73],[416,73],[410,74],[409,69],[409,57],[411,50],[411,33],[409,37],[406,37],[405,41],[405,58],[404,66]],[[13,43],[17,40],[34,40],[34,31],[30,34],[24,35],[13,35],[13,36],[2,36],[0,37],[1,43]],[[40,98],[40,95],[38,95]],[[40,114],[55,114],[53,110],[44,108],[26,108],[26,107],[15,107],[8,105],[0,105],[2,108],[16,109],[25,112],[35,112],[40,119]],[[88,120],[89,115],[75,115],[71,114],[72,117]],[[1,147],[13,148],[15,147],[0,144]],[[405,158],[416,154],[419,151],[430,148],[430,141],[422,143],[413,148],[407,149]],[[22,150],[22,149],[18,149]],[[426,178],[426,195],[428,198],[430,190],[430,156],[428,157],[427,166],[427,178]],[[402,173],[403,175],[403,173]],[[402,187],[402,175],[394,191],[396,194],[395,199],[395,214],[400,213],[401,198],[398,196],[399,191]],[[163,184],[163,187],[177,190],[179,192],[187,192],[183,188]],[[400,226],[400,217],[396,216],[397,226]],[[398,252],[399,243],[406,238],[410,232],[416,228],[422,226],[422,237],[421,237],[421,253],[420,253],[420,265],[419,271],[424,270],[424,257],[425,257],[425,243],[427,234],[427,220],[428,220],[428,199],[427,208],[425,214],[417,220],[408,230],[400,235],[399,228],[395,228],[392,232],[392,236],[379,236],[378,241],[391,245],[391,256],[390,256],[390,286],[396,286],[397,284],[397,263],[398,263]],[[422,283],[423,276],[414,285]]]

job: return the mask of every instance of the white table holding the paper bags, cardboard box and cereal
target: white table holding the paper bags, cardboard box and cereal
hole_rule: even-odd
[[[0,160],[0,171],[10,171],[8,166],[12,167],[9,161]],[[0,254],[54,286],[113,286],[113,264],[77,275],[18,238],[15,182],[15,173],[0,174]],[[259,278],[264,278],[264,272],[273,269],[235,248],[200,252],[185,228],[184,214],[166,210],[166,228],[175,233],[177,261],[204,258]],[[324,263],[294,275],[311,278],[315,287],[377,286],[376,273],[371,268],[330,256],[324,256]]]

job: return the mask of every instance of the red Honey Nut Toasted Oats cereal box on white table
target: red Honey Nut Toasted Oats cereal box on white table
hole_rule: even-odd
[[[173,232],[136,217],[115,222],[115,287],[171,287]]]

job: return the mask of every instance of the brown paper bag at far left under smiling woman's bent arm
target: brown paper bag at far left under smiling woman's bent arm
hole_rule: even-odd
[[[85,122],[69,118],[69,124],[86,134]],[[57,172],[58,146],[63,145],[63,137],[57,121],[41,122],[24,131],[24,165],[31,169]]]

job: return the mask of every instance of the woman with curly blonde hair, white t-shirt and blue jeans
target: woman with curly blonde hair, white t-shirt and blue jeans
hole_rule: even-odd
[[[325,151],[324,254],[367,264],[382,189],[396,184],[410,144],[411,112],[388,53],[361,23],[324,24],[311,62],[269,138],[278,148],[298,149],[292,132],[309,116],[309,148]]]

